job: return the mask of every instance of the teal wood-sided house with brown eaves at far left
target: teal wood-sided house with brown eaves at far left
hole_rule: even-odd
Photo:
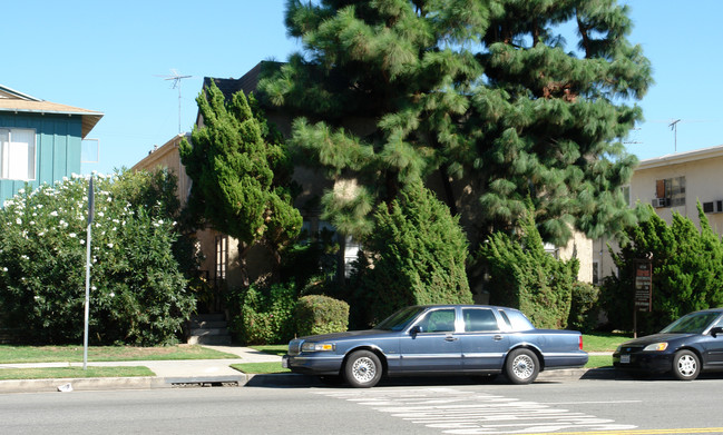
[[[80,174],[81,140],[102,115],[0,85],[0,207],[26,182],[36,188]]]

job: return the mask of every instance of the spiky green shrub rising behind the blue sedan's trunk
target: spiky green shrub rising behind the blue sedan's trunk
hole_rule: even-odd
[[[519,308],[538,328],[567,326],[579,263],[545,251],[531,211],[518,235],[491,235],[480,256],[490,275],[491,304]]]

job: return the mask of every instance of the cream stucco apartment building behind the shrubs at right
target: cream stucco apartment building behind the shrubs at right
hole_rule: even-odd
[[[703,206],[711,227],[723,231],[723,145],[642,160],[625,189],[628,204],[649,204],[655,212],[671,224],[673,212],[690,218],[698,228],[697,202]],[[607,245],[594,243],[593,281],[617,273]]]

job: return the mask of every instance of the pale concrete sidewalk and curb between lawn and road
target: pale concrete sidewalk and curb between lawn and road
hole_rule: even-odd
[[[59,390],[108,390],[108,389],[148,389],[186,386],[312,386],[320,385],[314,376],[295,374],[247,375],[234,368],[232,364],[281,362],[276,355],[264,354],[242,346],[209,346],[214,350],[237,355],[229,359],[184,359],[184,360],[134,360],[134,362],[92,362],[89,367],[99,366],[143,366],[148,367],[155,376],[144,377],[97,377],[67,379],[18,379],[0,380],[2,393],[40,393]],[[597,355],[590,353],[590,355]],[[82,367],[82,363],[38,363],[38,364],[0,364],[0,368],[29,367]],[[612,368],[577,368],[549,370],[539,374],[536,382],[569,382],[577,379],[610,379],[617,374]]]

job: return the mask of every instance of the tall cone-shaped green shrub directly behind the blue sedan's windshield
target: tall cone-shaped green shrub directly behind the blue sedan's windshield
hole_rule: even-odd
[[[355,323],[372,325],[408,305],[471,304],[467,239],[449,208],[421,184],[374,215],[353,280]]]

